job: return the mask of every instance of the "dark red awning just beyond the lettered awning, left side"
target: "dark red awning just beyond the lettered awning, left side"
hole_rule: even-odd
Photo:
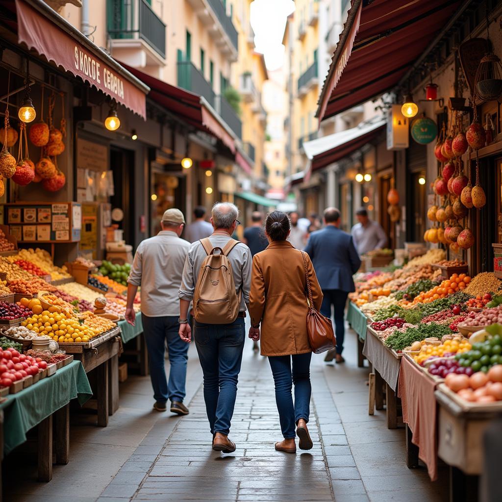
[[[235,153],[235,142],[220,121],[202,103],[200,96],[175,85],[163,82],[147,73],[121,63],[124,68],[138,77],[150,87],[149,97],[180,117],[191,126],[209,132],[220,139],[232,153]]]

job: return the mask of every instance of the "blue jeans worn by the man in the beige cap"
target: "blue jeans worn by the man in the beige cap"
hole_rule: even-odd
[[[154,399],[159,403],[165,403],[168,399],[182,403],[186,394],[188,343],[178,335],[178,316],[148,317],[142,314],[142,319]],[[169,383],[164,366],[166,341],[171,365]]]

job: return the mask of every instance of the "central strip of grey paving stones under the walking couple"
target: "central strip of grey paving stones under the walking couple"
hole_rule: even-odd
[[[247,346],[246,346],[247,349]],[[202,387],[166,444],[143,446],[103,491],[133,500],[368,500],[322,368],[314,368],[309,429],[314,448],[296,455],[274,450],[281,440],[267,358],[246,358],[239,376],[230,438],[233,454],[210,448]],[[155,459],[152,465],[151,461]],[[123,497],[123,498],[122,498]]]

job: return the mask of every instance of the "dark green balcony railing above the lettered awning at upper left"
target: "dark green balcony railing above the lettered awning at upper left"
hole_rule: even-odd
[[[166,25],[145,0],[108,0],[108,34],[112,39],[143,39],[166,57]]]

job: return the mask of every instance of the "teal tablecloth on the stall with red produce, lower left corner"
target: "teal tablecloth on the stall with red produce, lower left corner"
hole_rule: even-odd
[[[77,398],[82,406],[92,396],[80,361],[73,361],[52,376],[0,403],[4,411],[4,455],[26,441],[26,433],[42,420]]]

